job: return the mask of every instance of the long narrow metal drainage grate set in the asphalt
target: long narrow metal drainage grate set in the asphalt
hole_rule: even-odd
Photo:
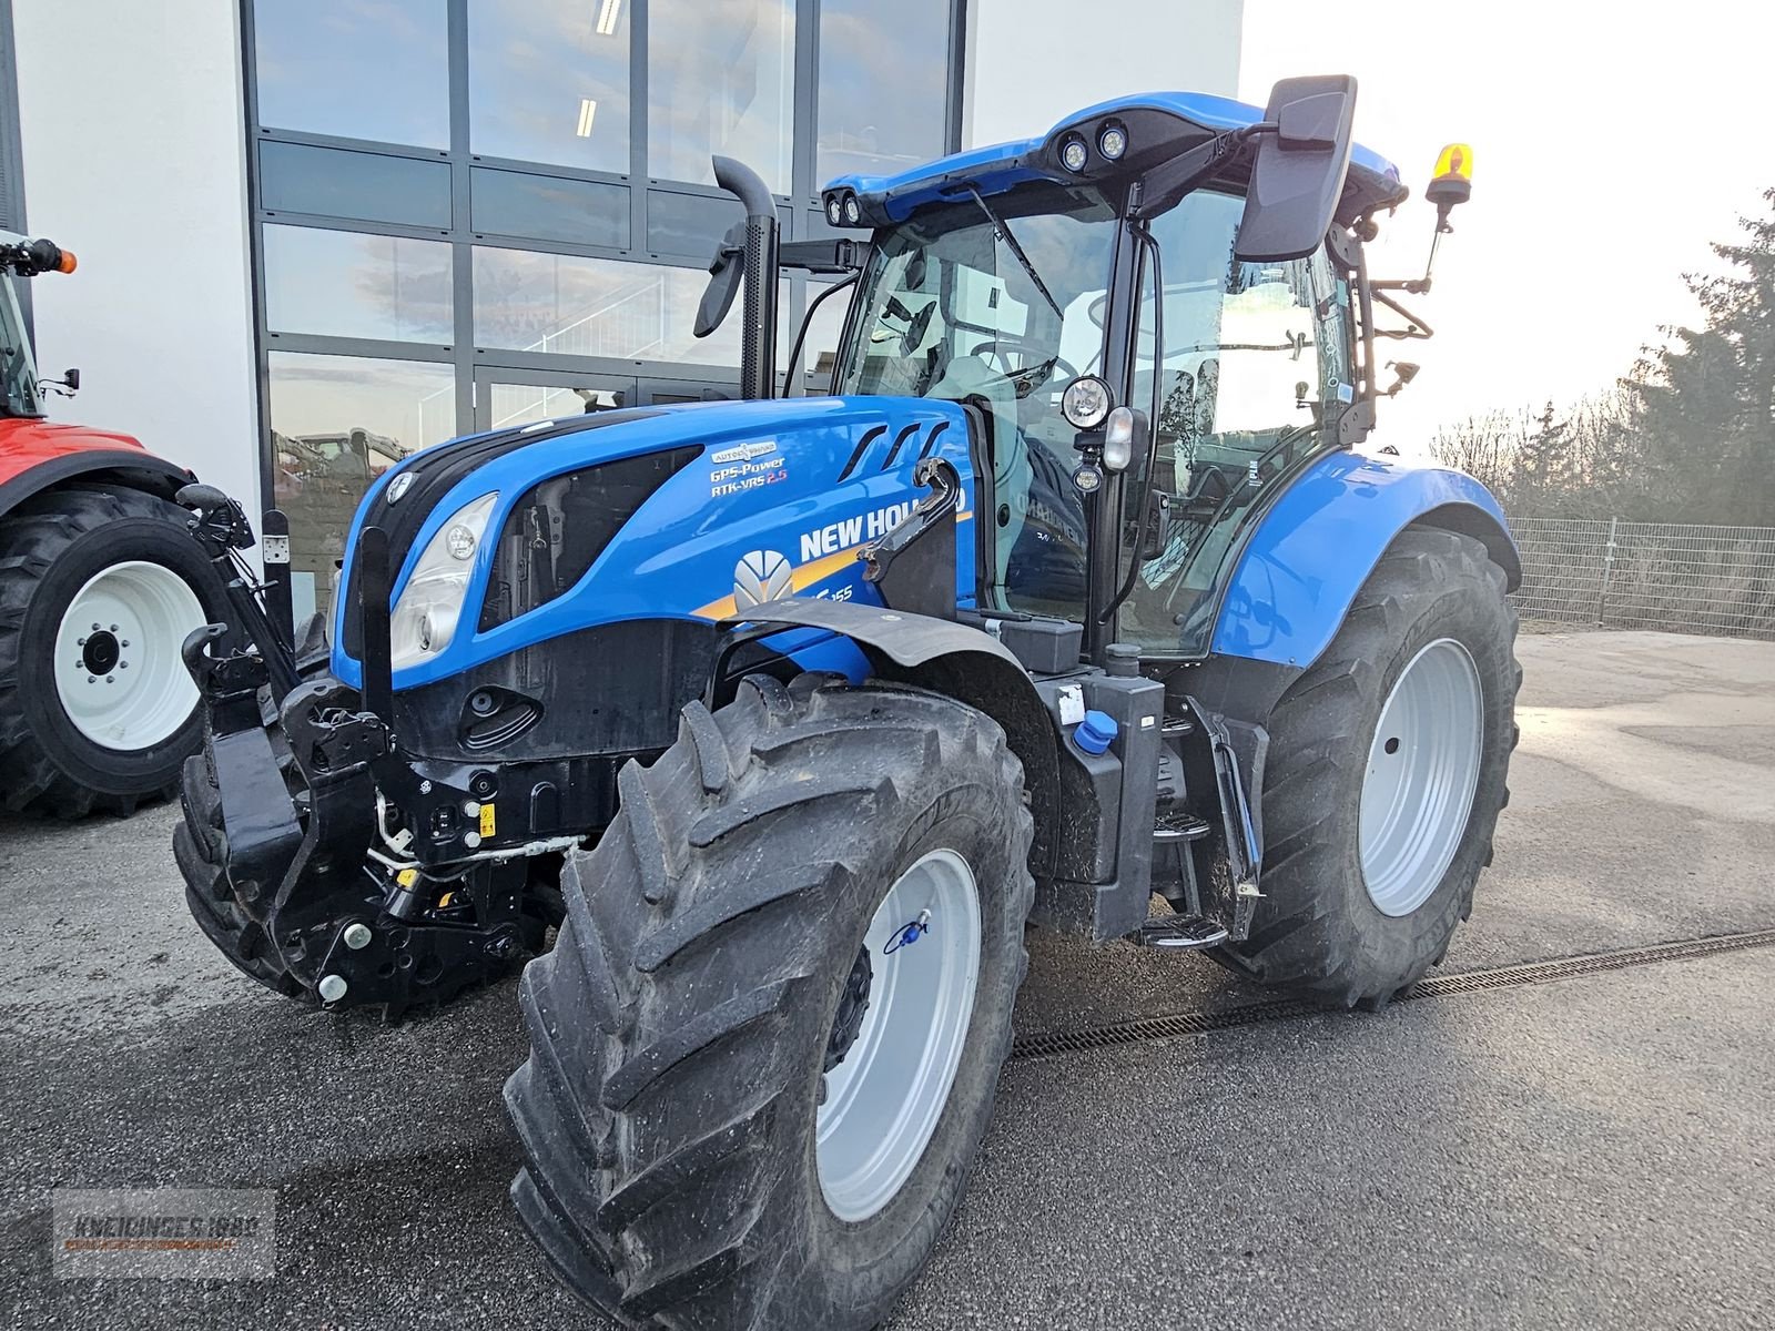
[[[1399,996],[1399,1001],[1422,997],[1447,997],[1452,994],[1473,994],[1482,988],[1512,988],[1516,985],[1544,985],[1551,980],[1574,980],[1598,971],[1622,971],[1629,965],[1653,965],[1656,962],[1679,962],[1692,957],[1711,957],[1720,951],[1741,951],[1745,948],[1775,946],[1775,928],[1755,930],[1752,933],[1720,933],[1711,939],[1686,939],[1683,942],[1654,942],[1649,948],[1628,948],[1626,951],[1599,951],[1583,957],[1562,957],[1557,962],[1526,962],[1523,965],[1498,965],[1489,971],[1468,971],[1464,974],[1445,974],[1420,980]],[[1267,1003],[1248,1003],[1239,1008],[1221,1008],[1219,1012],[1179,1012],[1168,1017],[1143,1017],[1113,1026],[1088,1026],[1081,1031],[1042,1031],[1019,1036],[1012,1045],[1014,1059],[1053,1058],[1056,1054],[1079,1054],[1086,1049],[1106,1049],[1109,1045],[1131,1045],[1147,1040],[1177,1040],[1186,1035],[1207,1035],[1225,1031],[1234,1026],[1257,1026],[1260,1022],[1287,1020],[1290,1017],[1310,1017],[1324,1008],[1301,999],[1271,999]]]

